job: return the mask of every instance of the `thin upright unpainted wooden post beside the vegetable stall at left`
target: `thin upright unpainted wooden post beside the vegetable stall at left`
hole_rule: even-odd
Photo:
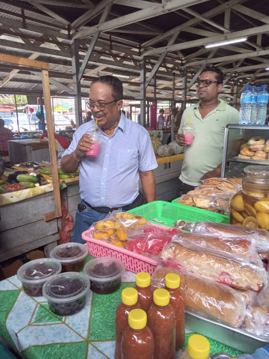
[[[42,70],[41,73],[42,73],[43,94],[44,94],[46,120],[47,120],[48,144],[49,144],[49,152],[51,154],[51,172],[52,172],[53,192],[54,192],[54,201],[55,201],[55,215],[53,214],[47,216],[44,215],[43,219],[46,221],[53,218],[61,217],[62,209],[61,209],[59,177],[57,170],[55,139],[54,139],[52,113],[51,113],[51,93],[49,89],[48,70]]]

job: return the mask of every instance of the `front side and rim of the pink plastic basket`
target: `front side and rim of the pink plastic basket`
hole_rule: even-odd
[[[125,268],[131,272],[147,272],[152,275],[157,267],[157,262],[153,259],[133,253],[124,248],[119,248],[113,244],[100,241],[91,237],[93,229],[88,229],[82,233],[82,238],[87,242],[90,255],[94,257],[113,257],[121,260]]]

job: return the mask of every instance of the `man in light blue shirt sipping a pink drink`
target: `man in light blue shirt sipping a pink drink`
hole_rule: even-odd
[[[84,242],[81,234],[113,210],[129,210],[155,200],[153,170],[158,167],[150,136],[143,126],[128,120],[123,112],[123,86],[114,76],[95,78],[87,106],[97,120],[101,144],[98,157],[86,155],[93,149],[89,132],[95,121],[81,125],[63,154],[61,170],[74,173],[79,168],[81,202],[77,206],[74,242]],[[138,191],[141,179],[145,196]]]

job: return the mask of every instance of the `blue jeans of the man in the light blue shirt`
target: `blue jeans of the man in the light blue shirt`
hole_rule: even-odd
[[[73,242],[85,244],[86,241],[81,238],[82,232],[89,229],[94,222],[104,219],[109,213],[97,212],[94,209],[89,208],[83,200],[81,200],[80,203],[86,208],[82,212],[79,212],[78,210],[76,211]]]

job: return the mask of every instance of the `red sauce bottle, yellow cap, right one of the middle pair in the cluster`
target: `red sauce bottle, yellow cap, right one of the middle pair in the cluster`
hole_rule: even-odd
[[[166,289],[155,289],[148,308],[148,326],[154,336],[154,359],[174,359],[176,351],[176,317]]]

